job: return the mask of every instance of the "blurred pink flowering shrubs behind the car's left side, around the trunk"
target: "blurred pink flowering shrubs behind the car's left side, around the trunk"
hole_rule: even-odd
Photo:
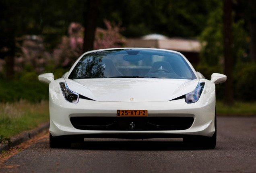
[[[106,29],[96,29],[94,49],[124,46],[125,39],[120,34],[123,30],[120,24],[111,24],[107,20],[104,22]],[[27,64],[31,65],[38,74],[43,73],[45,67],[51,63],[54,63],[54,68],[70,68],[83,54],[84,30],[81,24],[72,22],[68,28],[69,35],[62,37],[61,43],[52,54],[44,50],[43,39],[40,36],[24,36],[23,43],[21,45],[17,43],[21,52],[14,57],[14,72],[22,72]],[[3,72],[5,64],[5,60],[0,59],[0,72]]]

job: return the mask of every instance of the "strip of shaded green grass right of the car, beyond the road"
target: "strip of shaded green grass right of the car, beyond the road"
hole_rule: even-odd
[[[221,101],[216,102],[217,115],[256,116],[256,102],[235,102],[227,106]]]

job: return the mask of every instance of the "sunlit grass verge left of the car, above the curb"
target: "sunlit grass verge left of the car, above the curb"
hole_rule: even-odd
[[[22,131],[38,127],[49,121],[49,105],[46,101],[29,103],[0,103],[0,135],[10,137]]]

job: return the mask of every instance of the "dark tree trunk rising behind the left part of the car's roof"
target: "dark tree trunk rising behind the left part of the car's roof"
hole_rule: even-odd
[[[95,40],[95,31],[97,27],[97,15],[100,0],[89,0],[87,3],[87,13],[85,14],[85,35],[84,35],[84,52],[93,50]]]

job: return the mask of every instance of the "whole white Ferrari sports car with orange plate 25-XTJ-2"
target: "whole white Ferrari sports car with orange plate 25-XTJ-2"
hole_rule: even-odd
[[[50,147],[86,137],[183,137],[216,145],[215,84],[180,53],[155,48],[110,48],[84,53],[62,78],[49,83]]]

